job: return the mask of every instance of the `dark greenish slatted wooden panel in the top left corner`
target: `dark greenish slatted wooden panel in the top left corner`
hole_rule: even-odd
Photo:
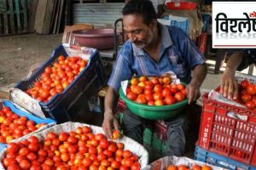
[[[27,31],[26,0],[0,0],[0,36]]]

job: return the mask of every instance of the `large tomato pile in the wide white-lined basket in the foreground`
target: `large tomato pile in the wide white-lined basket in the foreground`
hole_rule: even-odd
[[[35,136],[9,143],[3,166],[7,170],[139,170],[138,157],[124,150],[123,143],[108,140],[90,127],[56,134],[49,132],[42,141]]]

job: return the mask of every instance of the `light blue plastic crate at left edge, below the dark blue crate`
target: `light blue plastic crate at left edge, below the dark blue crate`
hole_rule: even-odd
[[[37,124],[40,124],[40,123],[46,123],[46,124],[52,124],[52,125],[55,124],[55,121],[52,119],[49,119],[49,118],[42,119],[37,116],[33,116],[31,113],[28,113],[26,111],[21,111],[19,108],[17,108],[16,105],[14,105],[9,100],[3,100],[2,105],[9,107],[10,110],[13,111],[16,115],[26,116],[27,119],[32,120],[32,121],[36,122]],[[3,150],[6,146],[7,146],[7,144],[0,143],[0,151]]]

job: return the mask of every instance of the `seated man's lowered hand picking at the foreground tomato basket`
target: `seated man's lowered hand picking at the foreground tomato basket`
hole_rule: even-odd
[[[105,134],[107,135],[108,139],[113,139],[113,129],[119,130],[119,120],[116,116],[113,115],[112,111],[105,111],[102,128]]]

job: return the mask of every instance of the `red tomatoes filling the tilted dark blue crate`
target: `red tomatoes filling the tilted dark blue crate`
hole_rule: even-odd
[[[59,56],[52,66],[47,66],[38,82],[33,83],[32,88],[26,90],[26,94],[47,102],[55,94],[61,93],[79,72],[87,65],[87,60],[78,56],[67,57]]]

